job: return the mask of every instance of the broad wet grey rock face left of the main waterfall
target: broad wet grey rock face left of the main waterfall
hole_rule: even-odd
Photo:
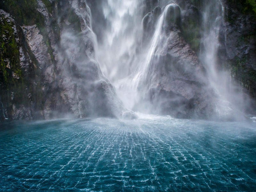
[[[44,18],[36,25],[20,26],[0,11],[3,30],[10,29],[4,43],[13,39],[18,51],[13,58],[1,49],[1,118],[121,117],[126,109],[95,60],[85,2],[51,2],[51,9],[36,2]]]

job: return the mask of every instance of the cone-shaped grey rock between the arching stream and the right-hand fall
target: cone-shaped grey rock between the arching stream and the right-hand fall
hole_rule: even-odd
[[[179,30],[168,35],[148,75],[150,110],[179,118],[209,118],[214,94],[205,82],[204,68]]]

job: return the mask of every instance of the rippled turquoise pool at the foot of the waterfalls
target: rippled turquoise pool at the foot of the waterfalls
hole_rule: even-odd
[[[256,123],[144,116],[0,124],[0,191],[253,191]]]

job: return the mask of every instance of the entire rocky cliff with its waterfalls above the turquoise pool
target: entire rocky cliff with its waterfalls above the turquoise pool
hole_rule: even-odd
[[[0,2],[1,119],[255,113],[248,2],[8,2]]]

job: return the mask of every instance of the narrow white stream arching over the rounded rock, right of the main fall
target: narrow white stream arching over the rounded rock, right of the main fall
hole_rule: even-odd
[[[144,47],[140,47],[142,51],[140,54],[136,55],[137,59],[134,60],[137,64],[137,67],[134,68],[135,70],[132,71],[131,75],[116,83],[117,92],[119,93],[119,96],[123,98],[123,102],[129,109],[132,109],[134,105],[140,102],[139,100],[141,99],[141,96],[143,97],[144,91],[147,91],[148,87],[145,85],[150,81],[149,72],[152,62],[159,54],[161,54],[161,49],[165,47],[167,43],[167,36],[164,32],[164,22],[167,10],[171,6],[177,5],[171,3],[165,6],[163,13],[159,16],[158,21],[156,22],[152,38],[148,44],[145,44]],[[143,109],[143,112],[146,111],[146,109]]]

